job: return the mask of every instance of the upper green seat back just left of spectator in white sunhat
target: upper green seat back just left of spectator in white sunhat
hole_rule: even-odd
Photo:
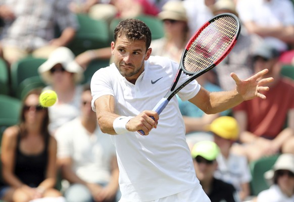
[[[44,58],[27,57],[14,63],[11,67],[11,87],[12,95],[20,97],[19,93],[21,83],[30,77],[40,77],[38,68],[46,61]]]

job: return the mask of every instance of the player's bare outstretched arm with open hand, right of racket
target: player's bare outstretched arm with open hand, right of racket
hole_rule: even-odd
[[[240,80],[235,73],[231,77],[236,82],[236,88],[230,91],[209,92],[201,87],[200,91],[189,101],[198,106],[206,114],[216,114],[240,104],[244,100],[260,97],[266,99],[262,91],[269,90],[267,83],[273,78],[262,78],[268,72],[264,69],[246,80]]]

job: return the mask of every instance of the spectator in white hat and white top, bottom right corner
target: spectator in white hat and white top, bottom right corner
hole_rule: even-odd
[[[258,194],[256,202],[294,201],[294,156],[292,154],[280,155],[273,169],[265,173],[265,178],[271,181],[271,186]]]

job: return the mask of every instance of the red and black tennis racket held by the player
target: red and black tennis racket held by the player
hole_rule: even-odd
[[[195,32],[185,47],[171,88],[153,111],[160,114],[179,90],[219,64],[235,45],[240,29],[240,21],[235,15],[223,13],[210,19]],[[176,88],[182,72],[190,77]],[[144,135],[142,130],[138,132]]]

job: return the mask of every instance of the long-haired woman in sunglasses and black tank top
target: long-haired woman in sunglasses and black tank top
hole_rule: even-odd
[[[39,106],[41,90],[34,89],[23,100],[20,124],[7,128],[1,144],[1,199],[28,202],[55,197],[65,201],[54,189],[56,184],[56,139],[48,132],[48,110]]]

